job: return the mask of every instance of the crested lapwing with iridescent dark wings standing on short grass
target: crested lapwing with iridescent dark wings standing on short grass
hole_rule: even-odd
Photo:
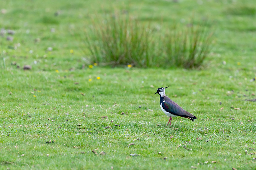
[[[194,122],[195,121],[194,119],[196,119],[196,116],[187,112],[182,107],[180,107],[177,103],[172,101],[168,96],[166,96],[165,95],[166,88],[167,87],[160,87],[157,89],[156,93],[160,95],[160,107],[162,111],[164,112],[165,115],[170,117],[169,119],[170,126],[172,124],[172,117],[176,117],[176,116],[185,117]],[[167,126],[169,122],[167,123]]]

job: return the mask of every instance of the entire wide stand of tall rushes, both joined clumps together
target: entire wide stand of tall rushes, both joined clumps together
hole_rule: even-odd
[[[212,33],[206,22],[184,28],[174,24],[161,39],[149,24],[126,14],[106,14],[99,20],[93,21],[85,36],[92,63],[193,69],[202,65],[210,50]]]

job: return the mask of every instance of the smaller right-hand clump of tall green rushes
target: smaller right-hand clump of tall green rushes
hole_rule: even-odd
[[[163,39],[165,66],[198,68],[209,53],[211,37],[212,31],[206,22],[183,28],[176,26]]]

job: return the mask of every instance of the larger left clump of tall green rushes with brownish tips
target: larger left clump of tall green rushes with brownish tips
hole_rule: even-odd
[[[94,21],[85,37],[93,63],[111,66],[132,64],[137,67],[154,64],[149,25],[129,15],[106,14],[101,22]]]

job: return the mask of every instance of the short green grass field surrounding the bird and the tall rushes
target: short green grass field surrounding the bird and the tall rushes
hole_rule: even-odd
[[[15,31],[0,35],[0,169],[256,169],[256,102],[247,101],[256,98],[254,0],[10,0],[0,8],[0,29]],[[211,53],[201,70],[89,68],[84,31],[114,9],[163,32],[208,18]],[[166,86],[195,122],[174,117],[166,126],[154,95]]]

